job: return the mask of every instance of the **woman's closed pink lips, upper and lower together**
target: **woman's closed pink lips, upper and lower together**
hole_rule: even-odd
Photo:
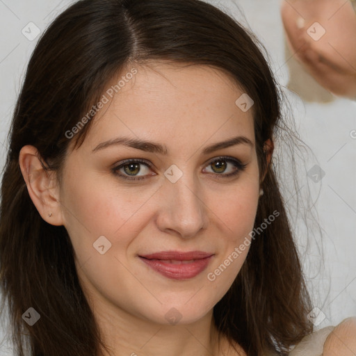
[[[145,264],[165,277],[173,280],[188,280],[207,268],[213,254],[202,251],[163,251],[139,257]],[[183,262],[191,259],[195,261]],[[174,260],[176,263],[172,263],[170,260]]]

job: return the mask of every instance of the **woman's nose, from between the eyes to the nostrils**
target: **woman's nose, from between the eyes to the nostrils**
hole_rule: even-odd
[[[191,238],[207,228],[207,205],[193,175],[184,174],[175,183],[165,179],[160,191],[161,207],[156,224],[161,231]]]

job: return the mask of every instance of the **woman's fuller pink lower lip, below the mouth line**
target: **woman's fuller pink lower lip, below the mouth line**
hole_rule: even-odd
[[[196,259],[188,264],[170,264],[163,259],[145,259],[143,257],[140,257],[140,259],[165,277],[171,278],[172,280],[188,280],[202,273],[202,271],[207,268],[211,257],[213,256]]]

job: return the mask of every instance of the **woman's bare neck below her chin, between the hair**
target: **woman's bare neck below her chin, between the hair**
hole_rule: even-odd
[[[95,318],[111,355],[100,356],[213,356],[220,354],[218,330],[212,310],[194,323],[162,325],[143,320],[122,309],[104,312],[96,306]]]

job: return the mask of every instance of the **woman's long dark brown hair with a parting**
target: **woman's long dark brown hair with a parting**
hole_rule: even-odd
[[[300,259],[273,163],[267,165],[264,155],[265,141],[278,136],[283,118],[280,90],[262,48],[236,20],[199,0],[82,0],[43,33],[15,107],[1,184],[0,285],[16,355],[24,355],[25,348],[34,356],[91,356],[102,350],[70,237],[35,208],[19,169],[19,151],[35,146],[43,167],[58,172],[60,183],[71,142],[65,132],[99,102],[124,67],[152,60],[215,67],[254,100],[259,171],[266,172],[254,226],[273,211],[280,216],[252,241],[236,280],[214,307],[219,332],[249,356],[268,350],[287,355],[312,332]],[[92,121],[72,138],[75,147]],[[33,326],[22,319],[29,307],[41,316]]]

